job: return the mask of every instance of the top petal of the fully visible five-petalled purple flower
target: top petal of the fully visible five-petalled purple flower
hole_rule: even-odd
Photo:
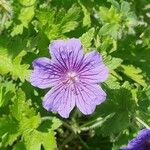
[[[79,39],[55,40],[49,45],[52,59],[57,61],[64,70],[73,69],[83,58],[82,45]]]

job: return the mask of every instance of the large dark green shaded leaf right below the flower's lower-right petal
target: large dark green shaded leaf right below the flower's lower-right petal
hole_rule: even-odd
[[[101,114],[107,117],[109,114],[114,114],[100,128],[104,135],[111,135],[119,133],[129,126],[129,114],[134,110],[135,102],[131,92],[125,88],[108,90],[107,92],[108,99],[99,107],[97,115]]]

